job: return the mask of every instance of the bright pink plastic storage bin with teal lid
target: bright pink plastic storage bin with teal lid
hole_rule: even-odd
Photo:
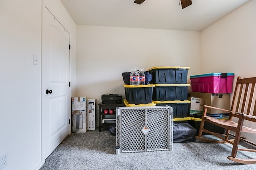
[[[190,76],[192,92],[232,93],[234,73],[211,73]]]

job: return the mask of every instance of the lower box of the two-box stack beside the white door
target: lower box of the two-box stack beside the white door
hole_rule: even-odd
[[[76,133],[86,132],[86,111],[85,110],[72,110],[71,111],[71,130]]]

